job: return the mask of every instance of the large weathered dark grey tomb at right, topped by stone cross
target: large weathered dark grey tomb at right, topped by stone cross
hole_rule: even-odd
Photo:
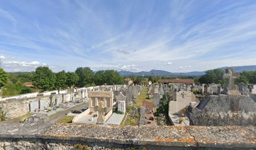
[[[208,95],[198,106],[189,106],[189,124],[194,126],[248,126],[256,125],[256,103],[237,91],[232,69],[227,69],[225,93]],[[231,78],[231,79],[230,79]]]

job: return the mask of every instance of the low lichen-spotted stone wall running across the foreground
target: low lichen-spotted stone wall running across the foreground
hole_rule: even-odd
[[[4,129],[4,127],[0,127]],[[0,149],[255,149],[256,127],[54,124],[40,133],[0,131]]]

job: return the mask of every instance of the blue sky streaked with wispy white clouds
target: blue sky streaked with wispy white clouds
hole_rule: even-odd
[[[1,1],[0,58],[6,71],[256,65],[256,1]]]

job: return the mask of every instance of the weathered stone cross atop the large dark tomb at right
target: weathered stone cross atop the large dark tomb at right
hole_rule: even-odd
[[[238,74],[236,74],[233,68],[226,69],[226,73],[223,75],[224,83],[224,94],[232,94],[238,95],[240,94],[237,90],[237,86],[235,85],[235,79],[238,78]]]

